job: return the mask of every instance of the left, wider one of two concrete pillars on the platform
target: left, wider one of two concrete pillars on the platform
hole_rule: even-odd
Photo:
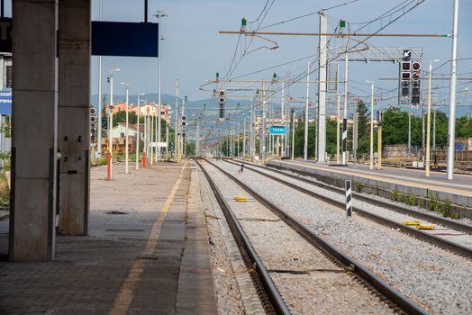
[[[57,0],[13,0],[14,105],[9,257],[54,258]]]

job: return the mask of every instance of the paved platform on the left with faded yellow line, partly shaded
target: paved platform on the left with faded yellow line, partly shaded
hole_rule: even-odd
[[[0,314],[217,313],[195,166],[130,169],[92,169],[89,235],[58,236],[53,262],[0,262]]]

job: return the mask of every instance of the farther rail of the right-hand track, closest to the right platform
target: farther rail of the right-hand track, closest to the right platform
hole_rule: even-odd
[[[230,160],[228,160],[228,159],[225,159],[225,160],[230,162]],[[306,176],[313,177],[313,175],[311,175],[308,172],[300,171],[300,170],[297,170],[297,169],[296,170],[295,169],[290,169],[290,168],[285,167],[285,166],[271,166],[271,167],[268,167],[268,166],[259,166],[257,164],[247,163],[247,162],[242,162],[242,163],[244,163],[245,165],[256,166],[256,167],[259,167],[259,168],[262,168],[262,169],[267,169],[267,170],[272,171],[272,172],[277,173],[277,174],[286,175],[287,177],[297,179],[297,180],[302,181],[304,183],[313,184],[313,185],[316,185],[318,187],[328,189],[328,190],[330,190],[331,192],[334,192],[334,193],[340,193],[342,195],[345,193],[344,189],[342,189],[340,187],[336,187],[336,186],[333,186],[331,184],[323,184],[323,183],[320,183],[320,182],[314,182],[313,180],[310,180],[308,178],[300,177],[300,176],[293,175],[293,174],[287,174],[285,172],[280,171],[280,169],[285,169],[287,171],[292,171],[292,172],[298,173],[300,175],[306,175]],[[234,164],[237,164],[237,163],[234,163]],[[465,232],[467,234],[472,235],[472,226],[464,224],[464,223],[460,223],[456,220],[441,218],[441,217],[439,217],[437,215],[434,215],[434,214],[425,213],[425,212],[422,212],[422,211],[416,211],[416,210],[409,209],[409,208],[404,207],[404,206],[399,205],[399,204],[383,202],[381,200],[377,200],[375,198],[368,197],[367,195],[362,194],[362,193],[353,192],[352,195],[359,201],[372,203],[374,205],[384,207],[384,208],[387,208],[387,209],[392,210],[392,211],[396,211],[396,212],[400,212],[400,213],[403,213],[403,214],[410,215],[414,218],[418,218],[418,219],[422,219],[422,220],[429,220],[433,223],[443,225],[443,226],[448,227],[450,229],[456,229],[456,230],[459,230],[461,232]]]

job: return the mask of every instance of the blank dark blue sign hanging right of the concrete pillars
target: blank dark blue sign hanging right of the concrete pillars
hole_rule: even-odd
[[[158,57],[159,23],[92,22],[92,55]]]

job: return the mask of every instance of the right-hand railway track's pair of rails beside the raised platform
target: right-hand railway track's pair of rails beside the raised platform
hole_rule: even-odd
[[[235,164],[235,165],[236,164],[241,164],[241,163],[236,163],[234,161],[227,160],[227,159],[225,161],[228,162],[228,163],[231,163],[231,164]],[[256,165],[250,164],[250,166],[248,167],[248,164],[245,163],[245,166],[246,166],[245,168],[249,168],[251,171],[253,171],[255,173],[258,173],[259,175],[264,175],[264,176],[266,176],[266,177],[268,177],[268,178],[270,178],[274,181],[277,181],[280,184],[285,184],[286,186],[294,188],[298,192],[305,193],[305,194],[307,194],[307,195],[309,195],[313,198],[320,199],[324,202],[329,202],[332,205],[334,205],[334,206],[336,206],[340,209],[345,209],[345,203],[344,202],[340,202],[339,200],[336,200],[332,197],[329,197],[327,194],[315,193],[312,190],[306,189],[306,188],[301,187],[297,184],[290,183],[290,182],[288,182],[288,181],[286,181],[286,180],[284,180],[280,177],[277,177],[275,175],[269,175],[266,172],[259,171],[258,169],[255,168]],[[276,169],[273,169],[273,168],[268,168],[268,167],[265,167],[265,166],[257,166],[257,167],[258,168],[263,168],[263,169],[265,169],[265,171],[274,172],[274,173],[277,173],[278,175],[284,175],[284,176],[287,176],[287,177],[292,178],[292,179],[296,179],[296,180],[304,182],[304,183],[316,185],[318,187],[321,187],[323,189],[327,189],[327,190],[329,190],[331,192],[334,192],[334,193],[340,193],[342,195],[344,195],[344,193],[345,193],[343,189],[340,189],[338,187],[334,187],[334,186],[331,186],[331,185],[328,185],[328,184],[322,184],[322,183],[319,183],[319,182],[314,182],[314,181],[311,181],[311,180],[303,178],[303,177],[299,177],[299,176],[296,176],[296,175],[290,175],[290,174],[287,174],[285,172],[282,172],[282,171],[279,171],[279,170],[276,170]],[[455,230],[458,230],[458,231],[466,232],[469,235],[472,235],[472,227],[470,227],[466,224],[462,224],[462,223],[459,223],[459,222],[456,222],[456,221],[453,221],[453,220],[448,220],[448,219],[445,219],[445,218],[440,218],[438,216],[431,215],[431,214],[428,214],[428,213],[424,213],[424,212],[421,212],[421,211],[414,211],[414,210],[411,210],[411,209],[408,209],[406,207],[402,207],[402,206],[399,206],[399,205],[395,205],[395,204],[391,204],[391,203],[387,203],[387,202],[382,202],[380,200],[370,198],[368,196],[361,195],[359,193],[353,193],[353,195],[354,195],[355,199],[361,200],[363,202],[368,202],[368,203],[386,208],[388,210],[400,212],[400,213],[403,213],[405,215],[409,215],[413,218],[419,218],[419,219],[422,219],[422,220],[429,220],[433,223],[440,224],[440,225],[445,226],[449,229],[455,229]],[[451,251],[453,253],[456,253],[458,255],[461,255],[463,257],[467,257],[469,259],[472,258],[472,249],[470,247],[463,246],[461,244],[458,244],[456,242],[450,241],[450,240],[445,239],[445,238],[436,237],[434,235],[431,235],[428,232],[422,231],[421,229],[415,229],[415,228],[411,228],[409,226],[405,226],[403,223],[396,222],[395,220],[386,219],[386,218],[384,218],[380,215],[372,213],[371,211],[367,211],[367,210],[361,209],[361,208],[356,207],[356,206],[353,207],[353,211],[357,212],[359,215],[361,215],[362,217],[364,217],[368,220],[374,220],[374,221],[376,221],[376,222],[378,222],[382,225],[386,225],[386,226],[391,227],[393,229],[399,229],[402,232],[413,236],[414,238],[422,239],[423,241],[426,241],[426,242],[431,243],[435,246],[444,248],[446,250],[449,250],[449,251]]]

